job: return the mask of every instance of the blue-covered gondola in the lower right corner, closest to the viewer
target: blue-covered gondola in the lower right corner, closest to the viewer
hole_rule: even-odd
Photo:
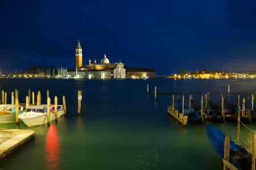
[[[218,158],[224,158],[225,135],[213,125],[207,126],[207,135]],[[251,169],[251,154],[230,140],[229,162],[237,169]]]

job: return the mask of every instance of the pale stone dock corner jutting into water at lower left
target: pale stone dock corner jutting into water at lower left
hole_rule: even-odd
[[[0,129],[0,159],[35,137],[35,131],[27,129]]]

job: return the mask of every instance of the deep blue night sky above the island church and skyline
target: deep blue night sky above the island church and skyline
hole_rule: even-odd
[[[84,65],[110,62],[185,70],[256,70],[255,0],[0,0],[0,68],[73,68],[80,37]]]

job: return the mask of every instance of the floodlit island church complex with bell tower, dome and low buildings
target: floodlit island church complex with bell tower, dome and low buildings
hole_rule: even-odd
[[[93,62],[89,58],[87,65],[83,65],[82,61],[82,47],[79,40],[76,46],[76,67],[75,69],[68,70],[68,78],[147,79],[155,78],[156,76],[155,69],[135,69],[131,67],[125,67],[121,60],[119,62],[110,63],[106,54],[104,54],[104,57],[99,63],[97,63],[96,58]]]

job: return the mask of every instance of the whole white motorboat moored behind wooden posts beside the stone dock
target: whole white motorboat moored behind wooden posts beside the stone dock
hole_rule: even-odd
[[[50,121],[55,120],[55,105],[50,105]],[[58,118],[64,115],[63,105],[57,106]],[[47,124],[47,105],[30,105],[23,114],[19,114],[20,120],[28,127]]]

